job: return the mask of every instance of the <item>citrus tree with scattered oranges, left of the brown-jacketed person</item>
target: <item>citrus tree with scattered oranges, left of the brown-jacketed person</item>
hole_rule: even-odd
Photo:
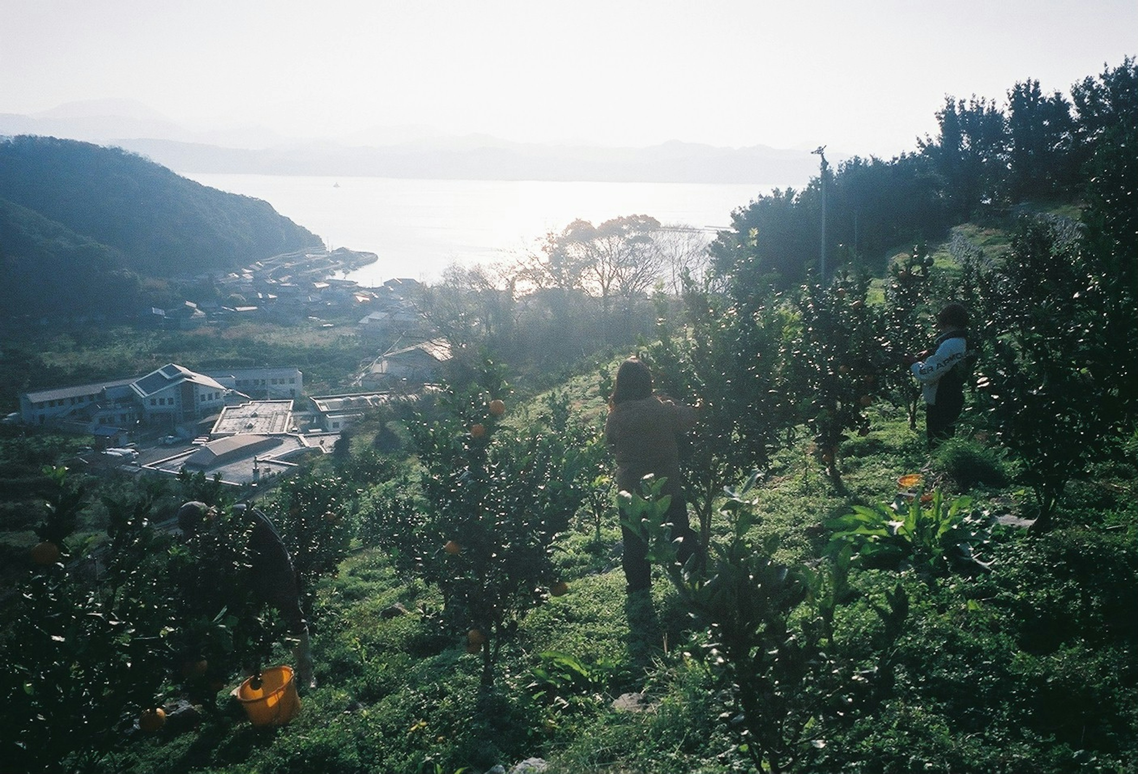
[[[396,538],[413,558],[409,569],[442,591],[446,625],[481,653],[484,685],[493,684],[521,617],[566,591],[553,547],[587,485],[568,411],[518,431],[502,421],[506,389],[500,372],[486,369],[447,389],[434,421],[413,426],[422,512]]]

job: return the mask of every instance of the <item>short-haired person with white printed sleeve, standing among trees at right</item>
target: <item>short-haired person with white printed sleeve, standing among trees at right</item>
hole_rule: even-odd
[[[956,420],[964,409],[964,382],[976,359],[968,334],[968,313],[959,304],[949,304],[940,311],[937,334],[931,349],[902,356],[921,382],[930,446],[956,434]]]

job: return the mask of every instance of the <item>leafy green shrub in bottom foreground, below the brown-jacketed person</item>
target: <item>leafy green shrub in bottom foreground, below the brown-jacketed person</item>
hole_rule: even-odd
[[[774,561],[777,536],[760,543],[749,536],[758,517],[748,493],[757,479],[754,474],[739,492],[728,491],[720,513],[729,533],[712,543],[706,575],[696,571],[696,559],[677,559],[663,521],[670,497],[660,496],[660,481],[645,478],[646,497],[621,492],[621,512],[707,629],[706,643],[692,650],[715,680],[719,717],[737,742],[728,754],[758,771],[790,772],[808,755],[818,718],[844,713],[859,689],[833,652],[834,611],[851,599],[850,551],[817,568]],[[906,604],[899,592],[883,615],[904,619]]]

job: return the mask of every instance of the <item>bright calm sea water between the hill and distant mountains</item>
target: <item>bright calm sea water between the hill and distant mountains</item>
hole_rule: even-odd
[[[772,184],[401,180],[190,174],[205,186],[264,199],[330,248],[368,250],[379,262],[348,274],[364,287],[393,277],[434,281],[452,263],[506,260],[533,249],[574,219],[599,224],[651,215],[702,229],[708,239],[731,213]],[[785,187],[785,183],[777,183]]]

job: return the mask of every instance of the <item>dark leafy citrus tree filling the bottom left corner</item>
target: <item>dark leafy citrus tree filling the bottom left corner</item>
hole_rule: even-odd
[[[63,468],[51,478],[56,492],[36,532],[65,547],[51,561],[33,555],[34,569],[0,607],[8,654],[0,665],[0,754],[10,771],[93,766],[159,705],[167,676],[170,538],[152,527],[150,501],[108,502],[108,549],[76,557],[66,545],[89,503]]]

